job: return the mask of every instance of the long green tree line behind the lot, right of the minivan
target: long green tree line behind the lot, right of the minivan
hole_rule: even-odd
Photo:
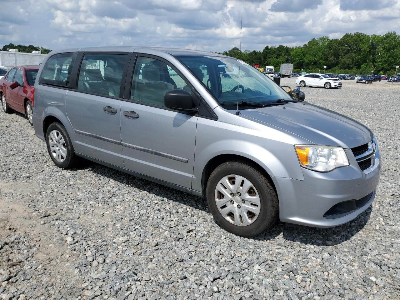
[[[293,72],[313,73],[326,66],[327,73],[334,74],[394,74],[400,64],[400,36],[396,32],[384,35],[368,35],[362,32],[346,33],[341,38],[328,36],[312,38],[297,47],[266,46],[264,50],[240,50],[236,47],[222,54],[240,58],[248,64],[260,67],[293,64]]]

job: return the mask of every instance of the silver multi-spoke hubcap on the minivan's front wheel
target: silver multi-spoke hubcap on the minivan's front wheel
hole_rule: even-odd
[[[215,188],[215,202],[222,216],[237,226],[252,224],[260,214],[260,196],[243,176],[222,178]]]

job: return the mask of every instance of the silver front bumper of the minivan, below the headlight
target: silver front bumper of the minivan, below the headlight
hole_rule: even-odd
[[[379,150],[374,154],[374,167],[368,174],[360,169],[351,150],[345,151],[350,166],[326,173],[302,168],[304,180],[272,178],[282,222],[334,227],[353,220],[371,205],[382,168]]]

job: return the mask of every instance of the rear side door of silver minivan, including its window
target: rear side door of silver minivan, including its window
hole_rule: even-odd
[[[120,91],[128,63],[128,54],[84,54],[77,90],[66,95],[76,151],[122,168]]]

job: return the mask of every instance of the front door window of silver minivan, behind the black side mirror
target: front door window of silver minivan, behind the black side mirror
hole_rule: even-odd
[[[201,70],[192,72],[203,80]],[[191,92],[190,87],[172,66],[158,59],[138,56],[132,77],[130,99],[164,106],[164,96],[171,90]]]

